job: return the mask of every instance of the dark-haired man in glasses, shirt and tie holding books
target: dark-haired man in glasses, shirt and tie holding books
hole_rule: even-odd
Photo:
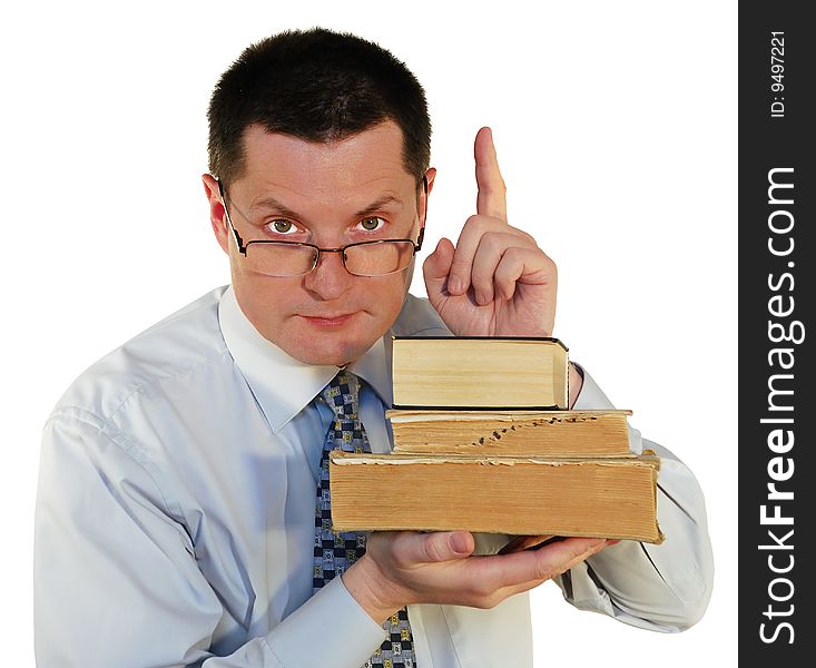
[[[556,265],[509,225],[482,128],[476,214],[424,261],[427,301],[407,294],[431,128],[419,82],[371,42],[311,30],[253,45],[208,116],[203,180],[230,285],[99,361],[48,420],[38,665],[529,666],[525,592],[548,579],[630,625],[695,623],[711,590],[705,503],[652,443],[660,546],[497,554],[507,537],[382,532],[331,562],[315,527],[331,399],[354,395],[356,438],[387,452],[391,335],[550,336]],[[609,405],[576,365],[570,403]]]

